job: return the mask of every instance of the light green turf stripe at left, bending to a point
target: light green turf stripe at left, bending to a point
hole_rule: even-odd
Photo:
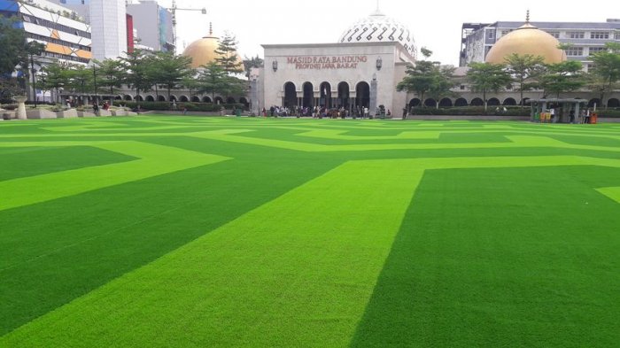
[[[136,160],[0,182],[0,211],[229,159],[196,151],[132,141],[0,143],[0,147],[9,146],[94,146],[136,157]]]

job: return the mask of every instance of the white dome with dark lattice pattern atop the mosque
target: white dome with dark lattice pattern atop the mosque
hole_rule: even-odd
[[[389,43],[398,42],[414,58],[416,56],[414,35],[407,27],[378,10],[365,19],[358,20],[345,30],[338,43]]]

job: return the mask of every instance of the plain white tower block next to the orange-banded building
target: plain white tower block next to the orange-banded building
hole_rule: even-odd
[[[127,51],[127,12],[124,0],[91,0],[93,58],[117,58]]]

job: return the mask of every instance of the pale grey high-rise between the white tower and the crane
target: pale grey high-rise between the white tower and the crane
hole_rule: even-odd
[[[128,4],[127,12],[134,18],[137,41],[141,46],[148,50],[174,52],[172,12],[152,0]]]

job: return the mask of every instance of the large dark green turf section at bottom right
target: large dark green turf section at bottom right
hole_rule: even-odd
[[[616,346],[620,205],[594,188],[618,177],[428,172],[351,346]]]

